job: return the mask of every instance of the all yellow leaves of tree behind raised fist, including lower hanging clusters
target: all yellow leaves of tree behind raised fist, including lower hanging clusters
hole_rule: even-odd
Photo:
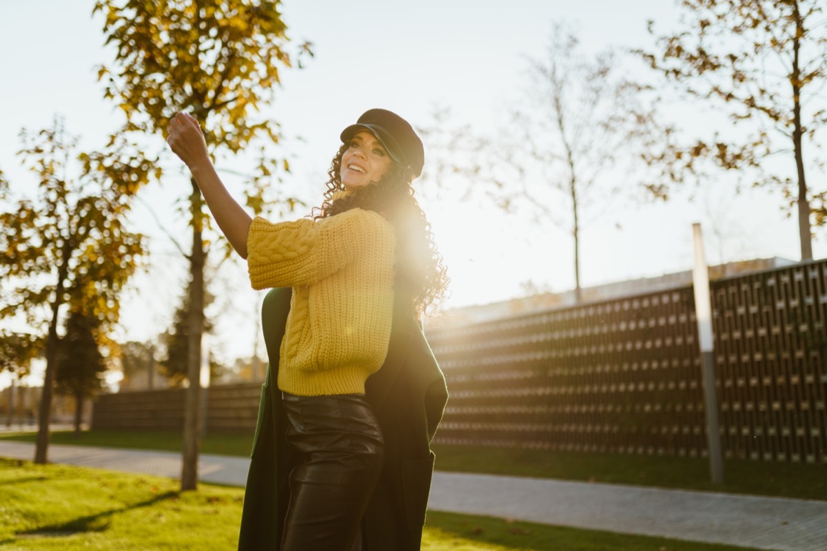
[[[98,69],[98,80],[109,80],[103,95],[115,100],[131,130],[163,135],[172,113],[184,110],[208,121],[205,135],[213,151],[235,153],[259,137],[278,143],[275,123],[252,115],[272,97],[279,70],[291,65],[279,2],[100,0],[98,11],[107,14],[105,40],[118,52],[116,65]],[[308,42],[294,50],[299,59],[313,55]],[[134,194],[162,170],[133,160],[92,156],[88,166],[111,180],[113,190]],[[286,159],[263,165],[262,178],[290,170]],[[189,203],[192,224],[201,230],[206,215],[198,198]],[[263,192],[252,192],[248,204],[261,211]]]

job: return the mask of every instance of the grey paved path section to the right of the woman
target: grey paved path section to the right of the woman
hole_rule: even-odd
[[[827,501],[435,473],[438,511],[778,551],[827,551]]]

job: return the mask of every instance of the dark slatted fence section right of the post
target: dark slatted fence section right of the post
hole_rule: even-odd
[[[712,284],[729,457],[827,463],[827,262]]]

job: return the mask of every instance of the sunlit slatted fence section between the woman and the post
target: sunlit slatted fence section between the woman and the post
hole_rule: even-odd
[[[696,456],[705,448],[691,287],[433,335],[442,442]]]

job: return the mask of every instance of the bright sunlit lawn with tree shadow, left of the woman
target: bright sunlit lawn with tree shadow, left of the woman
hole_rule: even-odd
[[[234,549],[243,493],[169,478],[0,459],[0,547]]]

